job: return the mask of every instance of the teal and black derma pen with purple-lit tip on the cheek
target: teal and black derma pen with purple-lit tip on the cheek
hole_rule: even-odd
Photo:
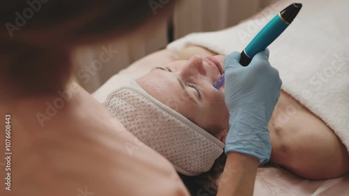
[[[241,52],[240,64],[248,66],[253,56],[265,50],[280,34],[285,31],[289,24],[295,19],[302,3],[292,3],[276,15],[265,27],[251,40],[244,51]],[[214,82],[214,88],[219,89],[224,84],[224,74]]]

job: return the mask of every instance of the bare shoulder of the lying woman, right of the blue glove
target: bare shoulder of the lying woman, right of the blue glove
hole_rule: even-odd
[[[306,179],[331,179],[349,171],[346,146],[318,116],[281,91],[270,130],[272,161]]]

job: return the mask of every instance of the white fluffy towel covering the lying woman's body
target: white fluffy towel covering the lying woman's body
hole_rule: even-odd
[[[223,31],[191,33],[168,45],[181,51],[200,45],[219,54],[241,52],[291,1],[265,8],[251,20]],[[269,45],[282,89],[319,116],[349,151],[349,1],[306,0],[290,27]]]

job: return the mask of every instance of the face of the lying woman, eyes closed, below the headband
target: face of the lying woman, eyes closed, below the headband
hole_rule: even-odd
[[[213,83],[223,74],[224,56],[174,61],[151,70],[138,84],[151,96],[186,116],[224,142],[229,113],[224,102],[224,86]]]

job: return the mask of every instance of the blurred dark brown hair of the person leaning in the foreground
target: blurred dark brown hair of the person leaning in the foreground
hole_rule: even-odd
[[[6,59],[7,65],[0,68],[0,82],[10,83],[3,91],[37,93],[57,91],[52,86],[64,88],[70,77],[72,46],[107,40],[144,22],[156,22],[170,13],[173,4],[155,0],[3,2],[0,22],[5,27],[0,29],[0,45],[6,53],[0,59]]]

